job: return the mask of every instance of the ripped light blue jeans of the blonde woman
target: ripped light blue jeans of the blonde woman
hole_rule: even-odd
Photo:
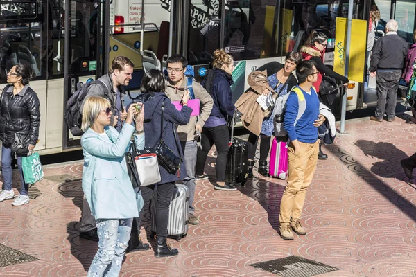
[[[88,270],[88,277],[117,277],[130,240],[132,218],[97,220],[98,251]]]

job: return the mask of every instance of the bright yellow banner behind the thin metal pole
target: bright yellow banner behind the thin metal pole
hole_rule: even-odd
[[[347,19],[336,18],[335,50],[333,70],[341,75],[345,74]],[[351,46],[349,48],[348,79],[363,82],[365,69],[365,51],[367,50],[367,21],[352,19]]]

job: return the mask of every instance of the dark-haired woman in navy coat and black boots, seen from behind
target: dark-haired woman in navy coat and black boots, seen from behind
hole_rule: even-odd
[[[184,93],[182,98],[183,107],[178,111],[166,96],[166,81],[162,71],[152,69],[144,74],[141,80],[142,94],[135,99],[135,102],[143,102],[146,106],[144,111],[144,132],[151,134],[145,137],[145,147],[156,149],[159,145],[161,136],[162,122],[162,105],[164,106],[163,118],[163,134],[164,143],[170,148],[177,157],[182,157],[182,148],[177,138],[175,124],[187,125],[191,117],[192,109],[188,107],[189,92]],[[185,168],[183,160],[180,168]],[[157,231],[157,249],[155,249],[155,257],[168,257],[177,255],[177,249],[171,249],[166,244],[168,236],[168,218],[169,204],[173,195],[175,181],[184,179],[185,172],[179,171],[177,174],[171,174],[162,166],[159,166],[160,176],[162,180],[152,186],[141,186],[141,196],[144,199],[144,207],[139,213],[139,217],[135,219],[137,229],[141,224],[141,218],[144,215],[144,209],[148,208],[153,191],[157,187],[157,203],[156,203],[156,231]],[[156,186],[157,185],[157,186]]]

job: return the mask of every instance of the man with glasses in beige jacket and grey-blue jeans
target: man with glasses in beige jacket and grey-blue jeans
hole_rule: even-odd
[[[198,150],[196,134],[202,132],[202,127],[204,127],[205,121],[211,114],[214,101],[198,82],[194,80],[188,82],[188,77],[184,75],[188,65],[185,57],[182,55],[172,55],[168,58],[166,64],[168,71],[166,95],[168,98],[172,101],[180,101],[184,91],[188,89],[192,90],[195,98],[200,100],[200,116],[191,116],[187,125],[177,127],[177,135],[179,136],[182,151],[184,152],[185,170],[187,171],[187,177],[183,181],[184,185],[189,188],[189,224],[196,225],[199,223],[198,218],[194,215],[195,207],[193,206],[196,152]]]

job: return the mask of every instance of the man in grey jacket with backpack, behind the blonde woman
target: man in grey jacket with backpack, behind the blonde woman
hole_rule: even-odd
[[[127,86],[132,79],[134,67],[135,65],[128,57],[115,57],[111,64],[110,73],[98,78],[98,81],[103,82],[104,86],[98,83],[92,84],[89,86],[87,96],[85,97],[85,100],[87,100],[87,98],[92,96],[101,96],[110,101],[113,113],[112,126],[119,132],[121,132],[123,122],[127,118],[127,111],[125,111],[123,102],[124,86]],[[107,88],[107,91],[105,91],[105,88]],[[81,113],[84,102],[80,107]],[[80,238],[98,242],[96,220],[91,214],[91,209],[85,197],[80,220]]]

